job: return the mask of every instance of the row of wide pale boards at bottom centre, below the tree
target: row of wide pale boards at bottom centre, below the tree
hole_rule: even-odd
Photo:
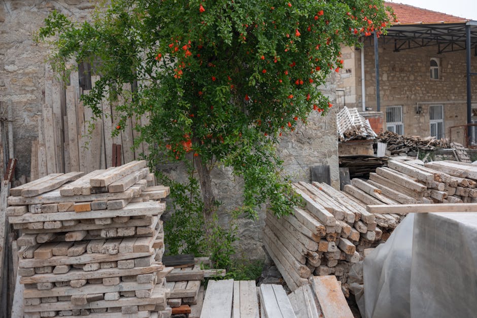
[[[335,276],[312,276],[288,296],[281,285],[209,280],[201,318],[352,318]],[[190,317],[190,316],[189,316]]]

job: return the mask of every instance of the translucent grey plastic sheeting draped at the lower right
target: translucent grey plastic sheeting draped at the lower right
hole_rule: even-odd
[[[366,318],[477,316],[477,213],[408,215],[363,279]]]

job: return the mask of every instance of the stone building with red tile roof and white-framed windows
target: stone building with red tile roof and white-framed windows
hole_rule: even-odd
[[[361,49],[343,48],[344,69],[336,83],[338,93],[343,92],[339,103],[363,111],[381,111],[383,129],[404,135],[448,137],[449,127],[467,123],[465,32],[468,27],[470,67],[475,73],[477,22],[408,5],[386,5],[393,8],[398,20],[388,35],[376,42],[372,36],[363,38]],[[477,123],[475,77],[470,98],[469,122]],[[453,129],[452,139],[464,143],[463,131]],[[472,129],[472,133],[477,136],[477,130]]]

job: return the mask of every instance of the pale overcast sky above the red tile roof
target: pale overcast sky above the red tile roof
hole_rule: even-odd
[[[477,21],[476,0],[386,0]]]

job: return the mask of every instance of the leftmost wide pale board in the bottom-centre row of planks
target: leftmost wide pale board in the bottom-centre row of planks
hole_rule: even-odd
[[[233,279],[209,280],[201,318],[223,317],[232,313]]]

